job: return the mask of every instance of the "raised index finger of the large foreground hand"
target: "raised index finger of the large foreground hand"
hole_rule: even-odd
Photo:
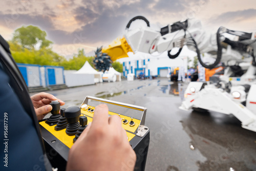
[[[93,116],[93,125],[103,126],[109,122],[109,108],[106,104],[96,106]]]

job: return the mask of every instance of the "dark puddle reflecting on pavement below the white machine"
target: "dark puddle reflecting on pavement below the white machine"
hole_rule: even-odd
[[[244,142],[243,133],[246,130],[241,129],[239,120],[233,118],[230,121],[228,116],[222,115],[222,122],[219,123],[215,119],[216,115],[208,112],[205,114],[207,117],[204,114],[192,112],[189,117],[180,121],[183,130],[190,137],[187,148],[195,153],[199,150],[207,159],[196,162],[198,170],[209,170],[209,168],[210,170],[255,170],[255,160],[253,156],[248,155],[253,145],[250,142]],[[235,132],[226,126],[226,119],[234,124]],[[253,136],[252,132],[250,136]]]

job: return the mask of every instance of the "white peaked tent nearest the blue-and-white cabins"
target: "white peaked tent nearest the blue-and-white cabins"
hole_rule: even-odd
[[[84,63],[80,70],[76,71],[75,74],[94,74],[94,82],[103,82],[102,74],[103,72],[98,72],[92,68],[88,61]]]

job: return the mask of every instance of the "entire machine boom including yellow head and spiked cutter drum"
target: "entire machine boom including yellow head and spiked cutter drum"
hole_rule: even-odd
[[[129,29],[136,19],[144,20],[147,27]],[[111,66],[108,62],[128,57],[127,52],[151,54],[168,51],[168,57],[174,59],[179,56],[183,46],[186,45],[190,50],[197,52],[201,65],[208,69],[215,68],[220,62],[228,66],[230,60],[238,63],[252,61],[252,65],[255,66],[255,41],[256,33],[232,31],[223,27],[220,27],[215,34],[207,33],[202,28],[200,20],[197,19],[176,22],[156,31],[150,28],[150,23],[145,17],[136,16],[127,24],[123,38],[118,38],[109,47],[99,48],[96,51],[94,64],[99,70],[108,70]],[[173,48],[179,48],[175,55],[170,54]],[[207,53],[208,59],[212,58],[215,61],[213,63],[211,63],[212,60],[207,61],[200,55],[202,53]],[[107,56],[106,58],[112,61],[107,60],[104,63],[104,60],[98,59],[101,56]],[[105,67],[102,67],[104,65]]]

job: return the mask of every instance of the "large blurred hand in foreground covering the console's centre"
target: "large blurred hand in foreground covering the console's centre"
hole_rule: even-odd
[[[93,122],[70,149],[67,170],[134,170],[136,154],[121,118],[108,111],[105,104],[96,106]]]

